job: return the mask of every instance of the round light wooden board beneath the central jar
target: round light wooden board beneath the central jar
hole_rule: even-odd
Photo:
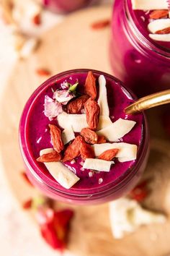
[[[57,74],[67,69],[91,68],[112,73],[108,51],[109,27],[92,30],[90,26],[92,22],[110,17],[111,7],[84,9],[69,15],[64,22],[42,35],[42,43],[35,54],[17,61],[6,82],[0,102],[0,151],[5,175],[19,203],[37,193],[25,184],[20,175],[24,167],[18,143],[19,117],[24,103],[33,90],[48,78],[38,76],[35,70],[47,68],[52,74]],[[151,111],[151,122],[157,120],[157,126],[158,119],[153,116]],[[154,129],[152,132],[151,156],[145,175],[153,178],[153,187],[156,187],[145,206],[168,214],[169,142],[158,138],[160,133]],[[134,234],[116,240],[109,225],[108,204],[70,207],[76,210],[69,244],[75,256],[163,256],[170,250],[169,221],[165,225],[143,226]]]

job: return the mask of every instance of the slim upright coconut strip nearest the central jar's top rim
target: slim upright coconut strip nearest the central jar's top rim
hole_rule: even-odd
[[[101,116],[109,116],[109,106],[107,102],[107,88],[106,88],[106,80],[104,75],[99,76],[99,98],[98,104],[100,107],[100,115]]]

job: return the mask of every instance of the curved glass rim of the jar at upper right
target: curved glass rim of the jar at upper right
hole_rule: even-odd
[[[146,48],[149,48],[151,51],[155,52],[159,56],[170,58],[170,49],[165,49],[163,46],[155,44],[153,40],[149,40],[146,38],[143,33],[140,32],[138,29],[138,26],[135,24],[135,14],[134,11],[131,7],[131,0],[124,0],[124,10],[125,10],[125,16],[127,17],[128,20],[128,25],[130,29],[135,32],[137,37],[140,39],[140,42],[142,43],[143,46]],[[170,42],[169,42],[170,43]]]

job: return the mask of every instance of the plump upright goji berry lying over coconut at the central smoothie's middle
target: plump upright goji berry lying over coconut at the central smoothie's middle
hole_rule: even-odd
[[[92,98],[89,98],[84,105],[86,111],[86,122],[90,129],[97,129],[99,123],[99,105]]]

